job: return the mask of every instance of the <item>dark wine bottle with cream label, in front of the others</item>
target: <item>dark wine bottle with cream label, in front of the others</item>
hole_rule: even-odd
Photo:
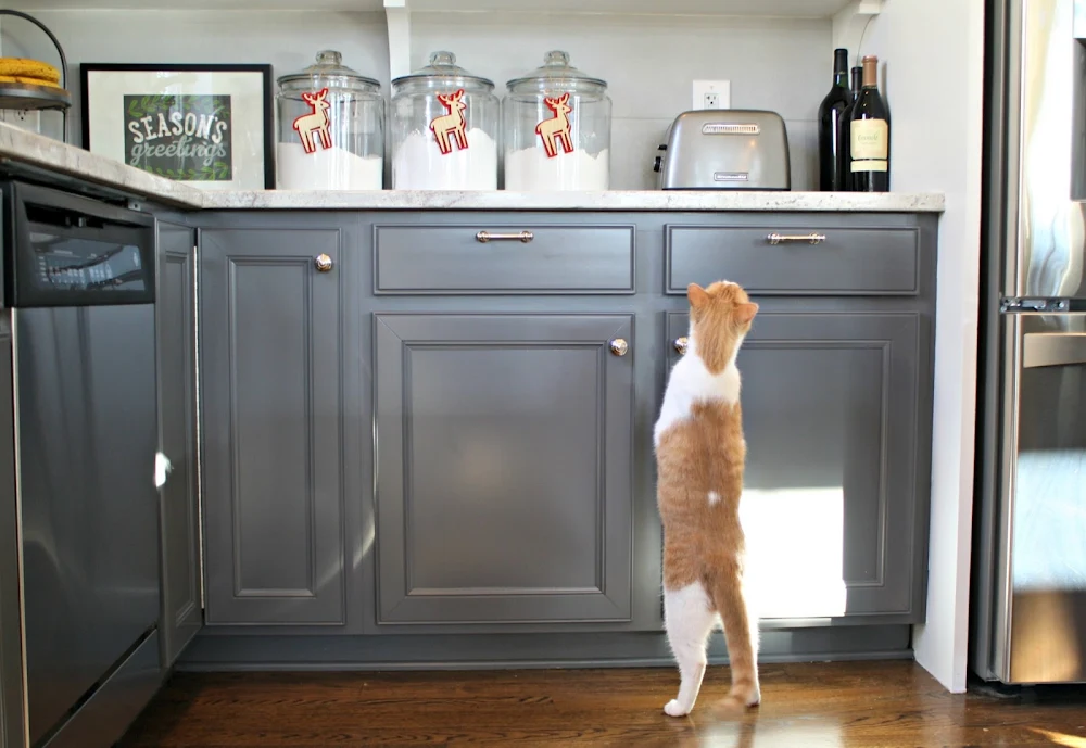
[[[849,123],[849,168],[856,192],[889,191],[889,112],[879,93],[879,58],[863,58],[863,88]]]

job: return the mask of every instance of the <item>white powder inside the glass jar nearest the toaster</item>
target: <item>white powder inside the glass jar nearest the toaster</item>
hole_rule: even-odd
[[[515,192],[606,190],[610,170],[607,149],[595,156],[576,149],[548,159],[542,148],[505,153],[505,189]]]

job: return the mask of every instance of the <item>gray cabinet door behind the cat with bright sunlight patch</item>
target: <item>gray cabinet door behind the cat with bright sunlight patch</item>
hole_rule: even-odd
[[[737,366],[741,512],[767,619],[923,621],[930,438],[918,313],[755,318]],[[668,315],[668,350],[686,334]]]

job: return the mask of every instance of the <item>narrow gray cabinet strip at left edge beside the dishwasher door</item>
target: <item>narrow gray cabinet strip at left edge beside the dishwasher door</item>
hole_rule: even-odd
[[[22,748],[23,645],[15,506],[11,312],[0,315],[0,746]]]

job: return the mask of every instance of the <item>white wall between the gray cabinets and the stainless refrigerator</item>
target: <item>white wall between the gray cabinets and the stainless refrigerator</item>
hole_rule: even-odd
[[[946,193],[939,223],[927,622],[917,661],[965,689],[980,283],[984,3],[886,0],[860,54],[886,63],[891,188]],[[908,75],[904,73],[908,69]]]

